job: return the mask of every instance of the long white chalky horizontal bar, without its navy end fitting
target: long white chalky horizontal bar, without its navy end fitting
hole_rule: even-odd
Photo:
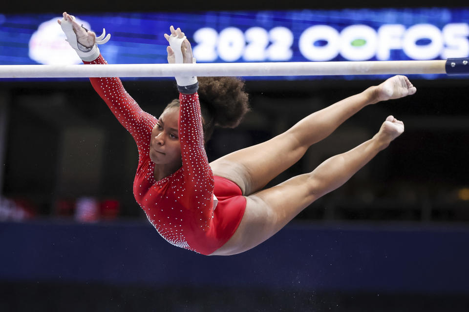
[[[113,65],[1,65],[0,78],[446,74],[446,60]]]

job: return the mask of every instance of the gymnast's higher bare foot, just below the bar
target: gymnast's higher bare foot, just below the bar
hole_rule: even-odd
[[[394,98],[404,98],[417,92],[409,79],[405,76],[397,75],[384,81],[377,87],[373,87],[374,103]]]

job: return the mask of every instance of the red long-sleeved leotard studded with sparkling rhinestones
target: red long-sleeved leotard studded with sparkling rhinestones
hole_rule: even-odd
[[[84,63],[107,64],[101,55]],[[90,81],[137,143],[139,161],[133,193],[158,233],[171,244],[200,254],[212,254],[223,246],[241,222],[246,198],[234,182],[213,176],[203,145],[197,93],[179,95],[182,167],[156,181],[149,144],[158,119],[138,106],[119,78],[90,78]],[[213,194],[218,199],[214,211]]]

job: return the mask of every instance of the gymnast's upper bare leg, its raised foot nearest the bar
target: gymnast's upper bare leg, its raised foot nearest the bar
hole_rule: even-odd
[[[364,106],[402,98],[415,91],[405,76],[389,78],[379,86],[370,87],[303,118],[277,137],[213,161],[210,163],[213,174],[235,182],[243,195],[251,195],[295,164],[312,144],[329,136]]]

